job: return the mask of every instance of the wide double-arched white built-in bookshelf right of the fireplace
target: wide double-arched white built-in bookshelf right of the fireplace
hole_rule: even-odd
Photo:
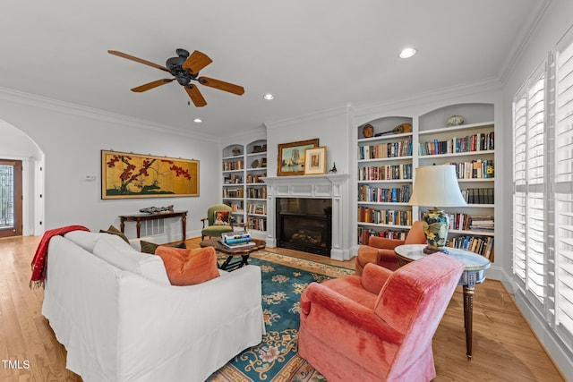
[[[448,126],[452,115],[464,123]],[[412,132],[395,134],[410,123]],[[373,127],[363,136],[364,125]],[[467,207],[446,208],[449,246],[473,250],[493,260],[495,128],[492,104],[441,107],[425,115],[383,117],[358,126],[358,243],[369,235],[404,237],[430,207],[410,207],[415,167],[454,165]],[[368,132],[370,135],[370,132]],[[439,207],[439,206],[438,206]]]

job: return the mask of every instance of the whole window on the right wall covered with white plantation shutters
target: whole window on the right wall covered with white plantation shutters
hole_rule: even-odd
[[[514,279],[573,350],[573,45],[517,92],[513,138]]]

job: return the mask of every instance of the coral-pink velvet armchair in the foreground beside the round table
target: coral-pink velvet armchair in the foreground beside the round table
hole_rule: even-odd
[[[464,265],[441,252],[392,272],[312,283],[301,296],[298,352],[334,381],[429,381],[432,337]]]

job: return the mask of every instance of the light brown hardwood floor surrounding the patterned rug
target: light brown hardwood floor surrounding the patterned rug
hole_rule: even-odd
[[[81,381],[65,369],[64,346],[41,315],[43,290],[30,290],[28,285],[39,239],[0,239],[0,382]],[[186,243],[194,248],[199,242],[194,238]],[[269,250],[354,267],[354,259],[336,261],[295,250]],[[461,287],[434,335],[433,351],[437,382],[565,380],[498,281],[486,280],[475,288],[473,359],[466,359]],[[28,368],[24,361],[29,362]]]

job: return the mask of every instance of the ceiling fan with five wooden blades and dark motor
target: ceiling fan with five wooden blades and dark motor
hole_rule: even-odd
[[[209,77],[199,77],[199,71],[203,69],[205,66],[212,63],[212,60],[209,58],[208,55],[201,53],[198,50],[193,51],[192,55],[189,55],[189,52],[185,49],[177,49],[177,57],[171,57],[167,59],[167,63],[165,66],[161,66],[158,64],[150,63],[149,61],[143,60],[138,57],[134,57],[133,55],[127,55],[122,52],[118,52],[116,50],[108,50],[107,53],[110,55],[117,55],[119,57],[127,58],[128,60],[135,61],[140,64],[146,64],[153,68],[160,69],[162,71],[170,73],[175,78],[172,79],[162,79],[157,81],[152,81],[150,83],[146,83],[144,85],[138,86],[137,88],[133,88],[132,91],[141,93],[143,91],[147,91],[150,89],[157,88],[158,86],[165,85],[171,81],[177,81],[180,85],[182,85],[191,98],[193,105],[197,107],[207,105],[207,101],[201,95],[201,91],[197,88],[197,85],[191,83],[191,81],[197,81],[201,83],[201,85],[209,86],[210,88],[215,88],[223,91],[228,91],[229,93],[236,94],[237,96],[241,96],[244,94],[244,88],[239,85],[235,85],[225,81],[215,80]]]

